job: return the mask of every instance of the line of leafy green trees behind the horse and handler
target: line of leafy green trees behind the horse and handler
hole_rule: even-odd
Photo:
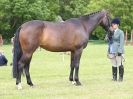
[[[120,28],[130,34],[133,29],[133,0],[0,0],[0,34],[10,39],[17,28],[30,20],[59,21],[88,13],[108,10],[119,17]],[[98,27],[91,39],[103,39],[105,31]]]

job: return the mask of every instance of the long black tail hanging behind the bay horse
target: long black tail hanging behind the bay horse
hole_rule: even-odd
[[[14,47],[13,47],[13,78],[16,78],[18,76],[18,62],[22,56],[22,49],[19,41],[19,34],[20,34],[19,27],[15,33],[14,37]]]

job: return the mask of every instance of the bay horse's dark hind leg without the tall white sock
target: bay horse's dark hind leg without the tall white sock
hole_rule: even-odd
[[[30,78],[30,73],[29,73],[31,58],[32,57],[30,57],[27,60],[26,65],[24,66],[24,69],[25,69],[25,75],[26,75],[26,79],[27,79],[27,84],[30,85],[30,86],[33,86],[33,83],[32,83],[31,78]]]

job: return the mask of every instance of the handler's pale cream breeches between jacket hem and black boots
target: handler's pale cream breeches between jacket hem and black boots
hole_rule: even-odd
[[[108,58],[110,59],[113,67],[119,67],[123,64],[123,55],[118,56],[116,54],[108,54]]]

